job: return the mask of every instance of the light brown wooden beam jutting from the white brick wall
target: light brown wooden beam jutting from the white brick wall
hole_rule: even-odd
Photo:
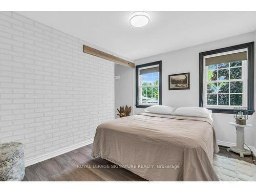
[[[90,55],[97,56],[97,57],[101,57],[101,58],[106,59],[106,60],[114,61],[114,62],[116,62],[116,63],[118,63],[120,65],[123,65],[123,66],[135,68],[134,67],[135,65],[134,65],[133,62],[121,59],[119,57],[116,57],[114,55],[105,53],[103,51],[99,51],[97,49],[91,48],[91,47],[86,46],[86,45],[83,45],[83,52],[87,53],[87,54],[90,54]]]

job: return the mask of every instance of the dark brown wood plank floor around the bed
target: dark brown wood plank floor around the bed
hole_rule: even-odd
[[[93,159],[91,151],[92,144],[28,166],[23,181],[146,181],[124,168],[96,168],[98,165],[111,167],[115,164],[101,158]],[[221,146],[218,155],[252,163],[251,156],[240,158]],[[77,165],[88,167],[78,168]]]

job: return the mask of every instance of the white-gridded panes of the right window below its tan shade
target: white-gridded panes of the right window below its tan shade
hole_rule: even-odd
[[[247,106],[247,60],[223,62],[205,67],[204,106],[233,109]]]

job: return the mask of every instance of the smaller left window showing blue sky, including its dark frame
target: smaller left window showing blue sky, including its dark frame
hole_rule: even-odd
[[[161,103],[161,67],[156,61],[136,66],[136,106],[147,108]]]

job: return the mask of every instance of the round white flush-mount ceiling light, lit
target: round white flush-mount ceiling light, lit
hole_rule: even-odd
[[[137,11],[129,17],[129,22],[133,27],[144,27],[150,23],[150,15],[144,11]]]

